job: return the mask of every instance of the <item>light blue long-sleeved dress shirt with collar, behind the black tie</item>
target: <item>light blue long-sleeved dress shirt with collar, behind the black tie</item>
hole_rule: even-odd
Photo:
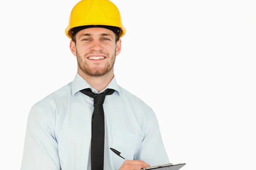
[[[98,93],[77,73],[73,82],[32,106],[27,119],[20,170],[90,170],[94,108],[93,98],[80,92],[84,88]],[[110,147],[151,166],[168,164],[154,111],[120,87],[115,77],[106,88],[116,91],[106,96],[103,104],[104,170],[118,170],[125,161]]]

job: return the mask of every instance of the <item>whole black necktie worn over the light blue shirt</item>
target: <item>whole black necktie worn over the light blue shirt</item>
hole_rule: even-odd
[[[81,90],[81,93],[94,99],[91,139],[91,170],[103,170],[104,167],[105,118],[103,103],[105,96],[113,94],[114,91],[115,90],[108,88],[101,94],[94,94],[90,88]]]

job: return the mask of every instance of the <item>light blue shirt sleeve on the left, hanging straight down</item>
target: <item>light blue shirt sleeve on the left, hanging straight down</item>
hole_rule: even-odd
[[[61,170],[54,114],[33,106],[27,119],[20,170]]]

